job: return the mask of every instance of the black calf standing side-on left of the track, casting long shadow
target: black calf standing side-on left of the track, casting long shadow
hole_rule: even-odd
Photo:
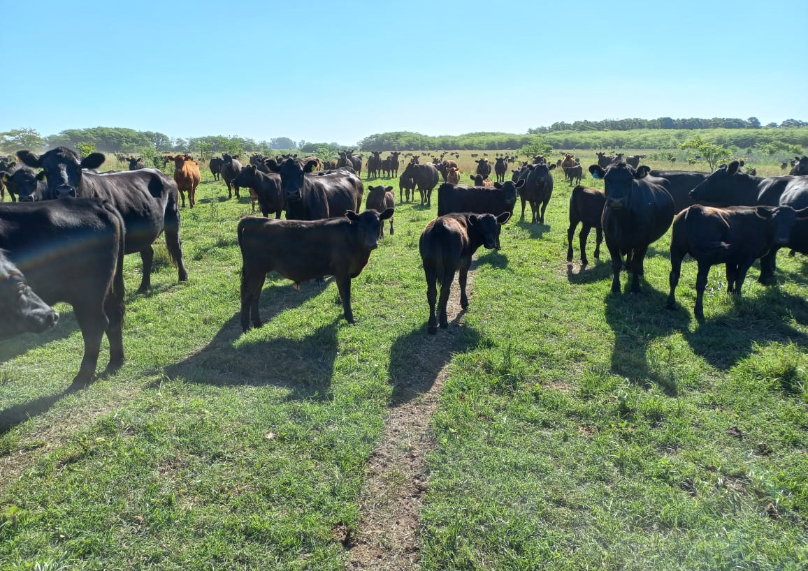
[[[290,159],[291,160],[291,159]],[[284,161],[285,162],[285,161]],[[368,264],[378,247],[382,221],[393,209],[362,214],[349,210],[329,220],[276,220],[245,216],[238,221],[238,247],[242,251],[242,330],[261,327],[259,298],[267,272],[275,271],[299,284],[324,275],[334,276],[348,323],[356,323],[351,311],[351,279]]]

